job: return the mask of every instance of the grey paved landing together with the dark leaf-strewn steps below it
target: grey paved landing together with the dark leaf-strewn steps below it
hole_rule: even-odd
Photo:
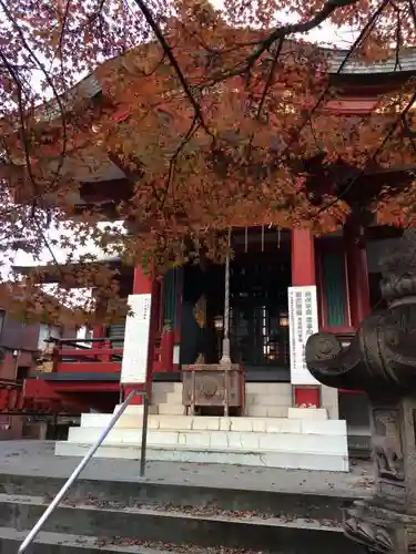
[[[22,535],[16,529],[29,531],[79,461],[53,450],[53,442],[0,445],[2,554],[17,552]],[[219,545],[221,554],[358,554],[339,527],[341,507],[372,493],[368,463],[351,473],[171,462],[150,462],[146,470],[140,479],[138,461],[92,460],[33,553],[124,553],[134,544],[129,552],[144,554],[150,541],[156,551],[175,545],[169,547],[174,554],[196,554],[201,546],[220,554]],[[103,537],[110,543],[101,548]]]

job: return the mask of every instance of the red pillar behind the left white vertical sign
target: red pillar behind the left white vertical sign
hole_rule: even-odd
[[[148,375],[146,375],[146,382],[145,383],[132,383],[132,384],[123,384],[123,390],[124,390],[124,398],[132,391],[132,390],[146,390],[148,394],[150,396],[151,393],[151,387],[152,387],[152,377],[151,377],[151,370],[152,370],[152,361],[153,361],[153,352],[154,352],[154,315],[155,315],[155,298],[154,298],[154,293],[155,293],[155,286],[152,279],[152,276],[146,274],[144,269],[140,266],[134,268],[134,274],[133,274],[133,295],[152,295],[152,312],[151,312],[151,325],[150,325],[150,332],[149,332],[149,362],[148,362]],[[142,404],[143,399],[141,396],[135,396],[133,397],[131,401],[131,406],[134,404]]]

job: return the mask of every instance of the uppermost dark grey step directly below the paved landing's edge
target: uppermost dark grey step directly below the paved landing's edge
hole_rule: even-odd
[[[138,464],[139,465],[139,464]],[[257,475],[256,469],[247,470]],[[138,466],[139,473],[139,466]],[[69,474],[69,473],[68,473]],[[98,475],[99,476],[99,475]],[[196,511],[213,512],[237,511],[270,515],[285,514],[292,519],[331,520],[335,524],[342,521],[342,509],[357,497],[356,488],[348,489],[348,495],[305,494],[301,491],[276,492],[270,489],[251,489],[241,481],[234,482],[234,488],[219,485],[209,478],[201,484],[190,484],[187,480],[181,483],[165,483],[149,479],[124,480],[123,471],[116,480],[79,478],[67,494],[72,504],[101,502],[119,503],[125,507],[136,505],[177,506]],[[0,493],[10,496],[40,496],[52,499],[64,484],[63,478],[42,476],[37,474],[0,473]],[[254,481],[255,483],[257,481]],[[283,488],[286,483],[283,483]],[[365,491],[359,490],[359,496]],[[371,494],[371,491],[367,491]]]

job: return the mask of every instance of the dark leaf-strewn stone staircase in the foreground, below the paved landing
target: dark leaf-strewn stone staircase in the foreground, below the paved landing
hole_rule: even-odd
[[[335,494],[308,496],[122,478],[77,481],[28,553],[361,552],[341,531],[346,499]],[[16,554],[63,482],[32,474],[0,475],[1,554]]]

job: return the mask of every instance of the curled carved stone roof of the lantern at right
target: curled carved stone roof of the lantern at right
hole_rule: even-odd
[[[409,232],[394,259],[383,265],[382,294],[388,308],[362,321],[349,348],[318,332],[306,343],[306,365],[322,383],[369,396],[416,390],[416,236]],[[410,244],[413,248],[410,249]],[[414,256],[410,256],[410,253]],[[413,259],[414,258],[414,259]]]

